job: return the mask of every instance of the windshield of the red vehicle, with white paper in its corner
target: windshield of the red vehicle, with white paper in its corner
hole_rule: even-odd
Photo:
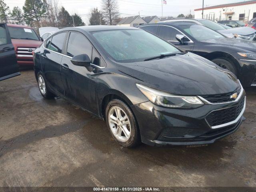
[[[39,40],[33,29],[21,27],[8,27],[12,39]]]

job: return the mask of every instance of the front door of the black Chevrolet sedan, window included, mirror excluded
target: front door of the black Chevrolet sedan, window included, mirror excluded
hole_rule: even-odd
[[[99,62],[100,56],[97,56],[98,60],[92,58],[94,55],[92,44],[84,34],[79,32],[70,32],[66,47],[66,56],[63,56],[61,62],[61,76],[65,96],[86,110],[97,114],[95,74],[99,70],[91,66],[75,66],[70,59],[76,55],[87,54],[93,63],[94,60]]]

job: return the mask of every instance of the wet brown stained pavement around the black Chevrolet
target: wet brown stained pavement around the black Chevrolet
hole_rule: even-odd
[[[214,144],[126,149],[22,72],[0,82],[0,186],[256,186],[256,88],[246,93],[246,120]]]

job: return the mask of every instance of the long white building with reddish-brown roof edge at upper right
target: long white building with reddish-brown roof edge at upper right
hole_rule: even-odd
[[[195,9],[194,12],[196,19],[202,18],[202,8]],[[248,22],[256,18],[256,0],[205,7],[203,18]]]

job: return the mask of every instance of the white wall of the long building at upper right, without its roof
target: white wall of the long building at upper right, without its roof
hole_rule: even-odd
[[[225,14],[228,12],[234,12],[234,14]],[[232,20],[239,20],[239,14],[245,14],[244,22],[250,21],[253,17],[253,13],[256,12],[256,3],[240,6],[222,7],[215,9],[205,9],[204,17],[210,20],[228,20],[231,16]],[[194,11],[195,18],[202,18],[202,10]]]

